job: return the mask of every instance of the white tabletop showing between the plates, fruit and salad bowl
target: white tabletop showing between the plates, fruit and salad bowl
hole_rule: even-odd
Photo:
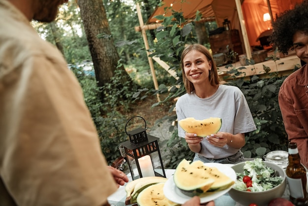
[[[175,172],[174,169],[166,169],[166,177],[169,178],[173,175]],[[127,177],[129,181],[132,180],[130,173],[127,174]],[[126,185],[126,184],[125,184]],[[120,186],[119,189],[108,197],[109,204],[114,204],[114,206],[125,206],[125,199],[126,199],[126,192],[125,192],[125,185]],[[289,199],[289,189],[286,187],[284,194],[282,198]],[[223,196],[220,196],[215,201],[215,206],[243,206],[239,203],[236,203],[229,195],[228,193],[224,194]],[[132,205],[130,205],[132,206]]]

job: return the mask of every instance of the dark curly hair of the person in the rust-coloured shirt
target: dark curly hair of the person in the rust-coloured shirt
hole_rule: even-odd
[[[308,0],[282,12],[273,22],[270,38],[273,48],[277,47],[279,52],[287,55],[293,49],[293,35],[298,31],[308,35]]]

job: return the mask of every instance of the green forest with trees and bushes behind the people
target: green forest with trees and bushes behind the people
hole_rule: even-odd
[[[143,116],[147,128],[169,122],[169,139],[159,142],[166,145],[161,153],[165,168],[175,168],[183,158],[192,159],[185,139],[177,135],[175,100],[185,94],[180,69],[180,55],[187,43],[201,43],[210,49],[208,33],[217,28],[216,22],[196,19],[183,24],[181,11],[173,16],[158,16],[162,27],[147,31],[150,56],[165,61],[176,78],[154,63],[159,84],[154,89],[152,74],[139,26],[136,3],[140,4],[143,21],[146,22],[160,0],[69,0],[60,8],[57,19],[49,24],[32,22],[38,34],[55,44],[62,52],[78,78],[85,95],[93,122],[97,128],[100,145],[111,164],[120,156],[118,146],[128,139],[125,130],[144,127],[138,120],[127,120],[132,116]],[[166,9],[171,9],[166,7]],[[172,26],[170,26],[172,25]],[[237,54],[228,52],[229,58]],[[276,57],[270,57],[276,61]],[[249,61],[253,65],[253,60]],[[227,65],[226,67],[232,67]],[[242,68],[243,69],[243,68]],[[287,136],[284,130],[277,94],[285,76],[268,72],[266,77],[258,74],[249,80],[236,78],[241,69],[231,68],[228,84],[238,86],[248,102],[257,130],[246,134],[246,145],[242,148],[247,158],[263,157],[273,150],[286,150]],[[298,68],[294,68],[296,70]],[[221,109],[227,109],[221,108]]]

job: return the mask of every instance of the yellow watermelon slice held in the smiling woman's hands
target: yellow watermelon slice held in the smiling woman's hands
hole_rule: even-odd
[[[222,120],[219,117],[204,120],[188,117],[179,121],[179,125],[185,132],[197,134],[198,137],[206,137],[217,133],[221,128],[221,123]]]

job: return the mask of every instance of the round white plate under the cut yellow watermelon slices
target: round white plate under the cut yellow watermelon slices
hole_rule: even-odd
[[[233,181],[236,181],[236,173],[229,165],[224,165],[220,163],[204,163],[204,165],[208,167],[216,167],[220,172],[224,173]],[[232,186],[225,190],[221,190],[218,192],[207,192],[204,195],[200,196],[201,203],[207,203],[209,201],[215,200],[216,198],[226,194],[229,192]],[[191,199],[191,197],[183,194],[179,188],[175,185],[173,181],[173,176],[171,176],[164,185],[164,195],[172,202],[178,203],[178,204],[184,204],[187,200]]]

